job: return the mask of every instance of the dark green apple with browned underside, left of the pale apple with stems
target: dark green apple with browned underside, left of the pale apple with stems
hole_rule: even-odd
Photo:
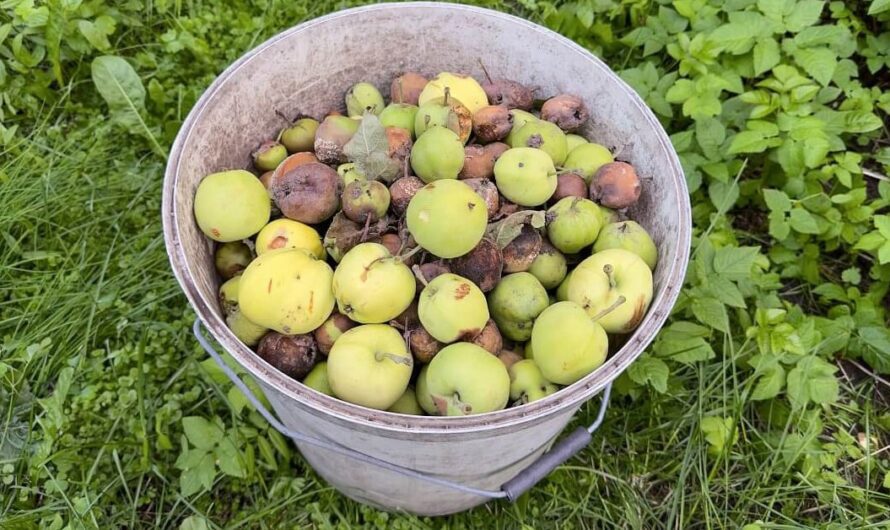
[[[508,274],[488,293],[488,309],[501,333],[515,341],[531,336],[532,323],[547,307],[547,290],[531,273]]]

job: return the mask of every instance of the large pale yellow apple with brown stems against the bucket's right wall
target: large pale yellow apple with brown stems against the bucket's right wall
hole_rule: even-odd
[[[572,271],[567,293],[569,300],[583,307],[603,329],[627,333],[646,316],[652,289],[652,271],[643,258],[612,248],[579,263]]]

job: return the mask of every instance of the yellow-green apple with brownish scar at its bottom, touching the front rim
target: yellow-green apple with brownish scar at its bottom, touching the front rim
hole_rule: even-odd
[[[510,398],[504,363],[475,344],[442,348],[428,365],[427,391],[441,416],[466,416],[500,410]]]

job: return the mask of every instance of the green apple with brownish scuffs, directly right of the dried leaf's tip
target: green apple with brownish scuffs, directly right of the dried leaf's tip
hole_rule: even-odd
[[[575,254],[596,241],[601,219],[595,202],[564,197],[547,210],[547,238],[560,251]]]

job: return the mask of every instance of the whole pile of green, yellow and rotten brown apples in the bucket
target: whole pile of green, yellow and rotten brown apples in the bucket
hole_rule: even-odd
[[[625,219],[635,169],[575,131],[570,94],[443,72],[357,83],[206,176],[235,336],[319,392],[403,414],[521,405],[585,377],[652,299],[657,250]],[[324,234],[322,236],[322,234]]]

